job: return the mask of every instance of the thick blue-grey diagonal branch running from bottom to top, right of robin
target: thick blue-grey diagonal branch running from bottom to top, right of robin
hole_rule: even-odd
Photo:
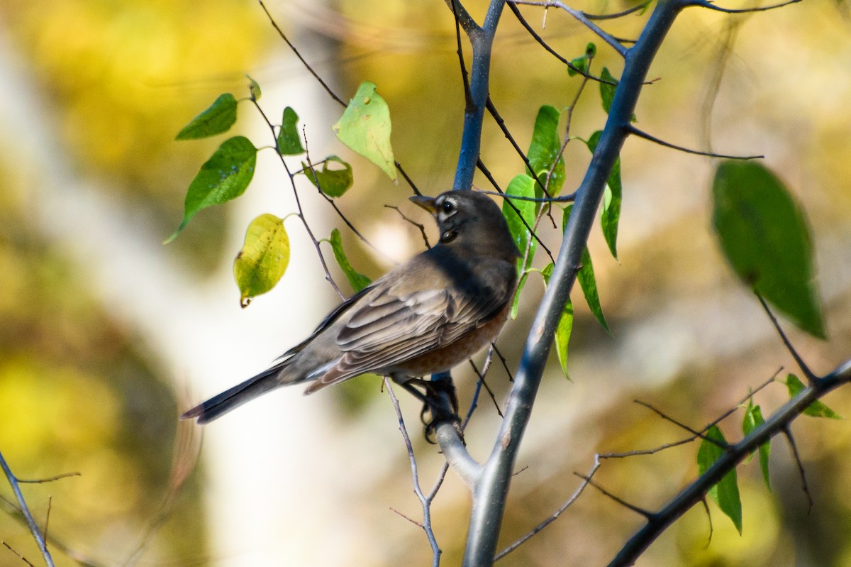
[[[565,230],[551,283],[526,341],[520,369],[505,408],[505,420],[484,465],[482,477],[475,486],[465,567],[489,565],[494,561],[517,450],[528,424],[558,320],[573,288],[582,251],[603,198],[606,180],[620,154],[626,135],[625,125],[635,110],[650,62],[685,5],[682,0],[660,0],[636,45],[629,50],[624,49],[624,72],[614,94],[606,127],[577,191],[574,212]]]

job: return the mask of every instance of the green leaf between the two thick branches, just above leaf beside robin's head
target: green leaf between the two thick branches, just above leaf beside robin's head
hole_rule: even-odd
[[[546,187],[551,196],[556,196],[562,191],[564,185],[564,157],[561,155],[562,140],[558,136],[558,119],[560,113],[554,106],[544,105],[540,107],[538,116],[535,117],[532,141],[529,142],[528,161],[532,170],[527,169],[528,175],[537,176],[540,185],[534,186],[535,197],[544,196],[542,186]],[[553,163],[555,167],[553,168]],[[552,169],[549,184],[546,175]],[[536,209],[540,210],[540,203],[536,203]]]

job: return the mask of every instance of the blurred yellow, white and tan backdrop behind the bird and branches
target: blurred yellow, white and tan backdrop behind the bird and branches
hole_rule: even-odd
[[[270,0],[283,30],[344,100],[363,80],[391,108],[396,158],[422,192],[447,189],[460,143],[463,91],[454,22],[445,3]],[[726,4],[725,4],[726,5]],[[730,3],[730,7],[744,7]],[[625,2],[580,2],[594,13]],[[481,20],[486,3],[468,8]],[[540,9],[523,8],[540,30]],[[647,15],[608,22],[637,37]],[[540,33],[568,58],[595,38],[551,9]],[[594,69],[622,61],[597,41]],[[260,83],[273,119],[293,106],[311,158],[337,153],[355,168],[340,209],[380,254],[298,185],[317,238],[334,226],[355,267],[375,278],[422,248],[419,231],[386,204],[427,225],[403,183],[351,155],[330,126],[341,113],[295,60],[258,3],[208,0],[5,0],[0,4],[0,451],[20,478],[79,476],[23,490],[40,524],[49,516],[58,565],[430,564],[420,504],[386,392],[363,377],[304,398],[278,391],[200,428],[177,416],[266,368],[300,341],[338,298],[295,218],[293,258],[282,282],[239,308],[232,261],[256,215],[294,212],[292,189],[270,151],[243,198],[197,215],[174,243],[192,177],[223,138],[174,142],[216,96],[247,96]],[[672,143],[764,154],[797,195],[813,227],[829,339],[785,324],[812,368],[851,357],[851,20],[846,4],[809,0],[730,17],[688,9],[665,40],[637,108],[638,126]],[[523,148],[538,108],[561,108],[579,88],[505,9],[494,47],[493,100]],[[247,103],[235,131],[273,143]],[[589,86],[573,135],[603,126]],[[523,163],[486,119],[483,162],[502,187]],[[568,144],[566,191],[590,154]],[[713,162],[627,140],[619,256],[591,238],[605,335],[580,296],[564,379],[555,358],[519,456],[503,527],[505,545],[567,501],[595,453],[642,450],[684,438],[638,398],[702,427],[778,373],[796,371],[757,301],[718,254],[710,228]],[[297,160],[292,162],[298,167]],[[304,181],[304,180],[302,180]],[[477,186],[491,189],[477,177]],[[557,221],[558,221],[557,215]],[[557,249],[558,233],[542,231]],[[329,249],[323,252],[329,256]],[[543,266],[543,255],[539,253]],[[333,262],[332,262],[333,263]],[[345,286],[345,278],[333,272]],[[500,337],[517,360],[540,282]],[[482,356],[477,360],[481,360]],[[505,371],[488,383],[502,404]],[[468,369],[455,373],[471,401]],[[422,440],[418,404],[400,393],[431,489],[443,460]],[[782,384],[759,392],[770,414]],[[851,391],[825,402],[851,415]],[[499,422],[482,400],[467,443],[483,459]],[[740,437],[741,414],[722,422]],[[783,439],[771,455],[773,492],[756,461],[740,467],[744,534],[710,504],[713,531],[696,507],[655,542],[639,565],[851,565],[851,426],[804,417],[793,427],[814,505],[808,507]],[[200,450],[200,458],[195,457]],[[696,444],[606,461],[597,481],[656,509],[696,476]],[[193,467],[194,466],[194,467]],[[5,481],[0,495],[12,499]],[[40,564],[26,528],[0,501],[0,540]],[[443,564],[459,564],[469,499],[448,473],[433,505]],[[643,518],[586,490],[554,524],[504,565],[606,564]],[[711,536],[711,538],[710,538]],[[62,547],[64,546],[64,551]],[[0,566],[23,561],[0,547]]]

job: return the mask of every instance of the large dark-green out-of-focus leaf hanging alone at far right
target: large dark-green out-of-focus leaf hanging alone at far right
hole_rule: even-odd
[[[739,278],[800,329],[824,338],[809,226],[783,182],[759,163],[726,161],[712,195],[712,223]]]

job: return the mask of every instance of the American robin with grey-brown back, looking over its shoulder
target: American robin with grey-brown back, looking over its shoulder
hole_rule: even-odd
[[[453,368],[494,341],[511,309],[520,255],[500,208],[472,191],[411,200],[434,215],[440,230],[435,246],[337,306],[282,355],[288,358],[180,418],[207,423],[300,382],[311,382],[307,394],[374,373],[405,386]]]

